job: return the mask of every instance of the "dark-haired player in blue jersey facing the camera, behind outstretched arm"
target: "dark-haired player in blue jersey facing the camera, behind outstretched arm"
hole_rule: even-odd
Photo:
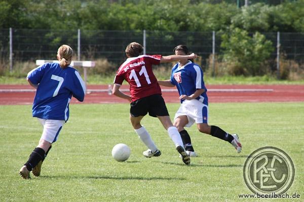
[[[186,45],[178,45],[174,48],[175,55],[189,55]],[[158,81],[160,85],[176,86],[181,106],[174,117],[174,126],[177,127],[187,154],[196,157],[191,138],[184,127],[190,127],[194,123],[200,132],[210,134],[219,139],[230,142],[240,153],[242,145],[237,134],[229,134],[218,126],[208,125],[208,96],[203,79],[203,71],[199,65],[191,60],[180,60],[172,68],[171,79]]]

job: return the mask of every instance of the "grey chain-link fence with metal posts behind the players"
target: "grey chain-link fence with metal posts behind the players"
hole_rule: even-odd
[[[262,33],[272,41],[274,52],[304,63],[304,33]],[[37,30],[0,29],[0,61],[12,64],[16,61],[37,59],[56,60],[56,51],[61,44],[68,44],[78,60],[106,58],[115,64],[125,61],[125,48],[132,41],[144,45],[146,54],[172,55],[178,44],[202,57],[202,67],[214,53],[221,55],[221,34],[218,32],[165,32],[165,31],[106,31],[106,30]],[[278,49],[279,48],[279,49]],[[11,61],[10,61],[11,60]],[[275,66],[276,62],[274,62]],[[276,67],[274,67],[276,69]]]

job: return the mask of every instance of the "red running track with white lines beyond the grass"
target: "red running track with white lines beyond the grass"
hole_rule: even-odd
[[[89,93],[84,104],[127,103],[109,95],[107,85],[89,85],[87,88]],[[128,90],[128,86],[123,85],[121,89]],[[304,85],[207,85],[207,89],[209,103],[304,102]],[[34,95],[34,89],[29,85],[0,85],[0,105],[31,105]],[[178,96],[177,91],[163,92],[167,103],[179,103]],[[80,102],[72,98],[71,103]]]

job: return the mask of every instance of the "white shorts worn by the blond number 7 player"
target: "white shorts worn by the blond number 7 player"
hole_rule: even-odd
[[[41,125],[43,125],[43,132],[41,138],[53,143],[57,140],[59,132],[65,123],[64,120],[49,120],[37,118]]]

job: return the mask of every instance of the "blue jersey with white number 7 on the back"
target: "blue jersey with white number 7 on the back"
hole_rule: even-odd
[[[79,72],[71,66],[62,69],[58,63],[45,63],[27,74],[32,84],[38,85],[33,117],[68,120],[72,96],[83,102],[86,87]]]

